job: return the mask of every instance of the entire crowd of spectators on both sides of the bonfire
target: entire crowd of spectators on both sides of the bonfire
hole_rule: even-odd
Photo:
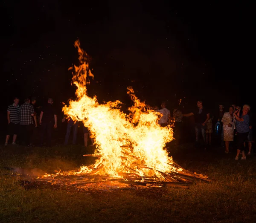
[[[8,127],[5,145],[8,145],[10,136],[12,136],[12,144],[15,145],[17,135],[19,135],[20,145],[34,146],[35,129],[39,124],[41,126],[39,146],[46,145],[50,147],[52,144],[52,131],[57,128],[57,111],[53,106],[53,99],[48,98],[47,104],[41,108],[39,117],[35,112],[35,98],[25,98],[25,102],[21,106],[19,106],[19,101],[19,98],[14,98],[13,104],[9,105],[7,109]],[[240,155],[241,159],[246,159],[244,152],[245,142],[248,142],[249,148],[247,155],[251,154],[253,138],[249,105],[244,104],[241,109],[233,104],[229,107],[228,112],[224,112],[224,106],[220,104],[218,112],[215,114],[211,114],[203,106],[202,101],[197,101],[197,107],[196,110],[183,114],[177,106],[171,113],[166,108],[166,103],[162,102],[160,109],[157,106],[152,107],[152,109],[162,114],[158,121],[159,125],[162,127],[173,125],[177,144],[180,143],[180,138],[182,137],[183,119],[193,116],[196,147],[203,146],[207,149],[207,146],[212,144],[212,133],[215,133],[218,135],[220,145],[225,147],[225,153],[229,153],[230,147],[237,149],[236,160],[239,159]],[[87,147],[89,139],[91,141],[90,144],[94,144],[93,138],[90,137],[90,131],[87,127],[84,127],[83,123],[74,122],[65,116],[61,121],[67,121],[64,145],[69,142],[71,130],[73,130],[72,143],[76,144],[79,125],[83,127],[84,146]],[[200,138],[202,143],[200,143]]]

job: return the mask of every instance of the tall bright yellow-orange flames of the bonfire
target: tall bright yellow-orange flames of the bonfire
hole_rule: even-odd
[[[83,122],[95,138],[94,155],[99,159],[93,167],[99,169],[97,174],[122,177],[124,173],[136,171],[140,176],[164,178],[161,172],[174,171],[175,167],[169,165],[172,157],[163,149],[166,142],[173,139],[172,128],[158,125],[160,114],[141,102],[131,87],[128,87],[128,94],[134,106],[128,109],[128,116],[120,111],[120,101],[99,104],[96,96],[87,96],[88,76],[93,77],[93,74],[89,69],[88,55],[80,48],[79,41],[75,42],[75,46],[80,61],[79,67],[74,66],[73,72],[77,100],[71,100],[63,111],[73,120]],[[82,166],[76,174],[91,171],[87,166]]]

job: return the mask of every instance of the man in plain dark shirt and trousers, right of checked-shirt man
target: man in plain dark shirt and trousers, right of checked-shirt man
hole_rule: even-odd
[[[39,124],[42,126],[41,130],[41,146],[44,143],[44,135],[47,133],[46,145],[51,147],[52,130],[57,128],[57,114],[55,107],[53,107],[53,99],[48,98],[47,105],[42,107]]]

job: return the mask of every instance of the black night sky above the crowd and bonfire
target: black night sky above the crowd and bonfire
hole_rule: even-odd
[[[1,109],[13,96],[20,104],[35,96],[38,105],[74,96],[68,68],[78,65],[77,39],[92,57],[88,91],[100,102],[129,104],[133,86],[148,104],[253,107],[253,7],[177,2],[1,1]]]

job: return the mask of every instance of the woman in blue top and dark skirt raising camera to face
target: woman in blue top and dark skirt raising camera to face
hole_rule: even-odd
[[[236,160],[239,159],[239,154],[242,151],[241,159],[246,159],[244,153],[244,142],[247,139],[249,133],[249,125],[250,125],[250,116],[248,112],[250,111],[250,106],[244,104],[243,111],[240,116],[240,107],[236,107],[236,111],[234,112],[234,116],[236,117],[236,130],[237,130],[237,154]]]

